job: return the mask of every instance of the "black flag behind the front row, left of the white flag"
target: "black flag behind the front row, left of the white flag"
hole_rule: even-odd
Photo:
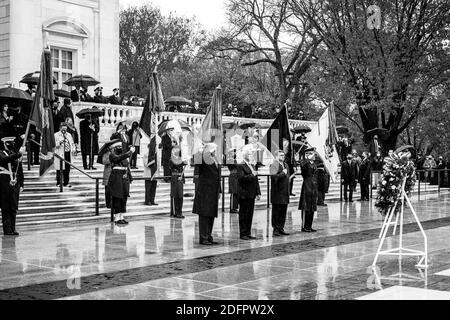
[[[291,130],[286,106],[283,106],[277,118],[270,126],[262,144],[274,154],[277,150],[283,150],[286,154],[286,163],[294,166],[294,152],[292,148]]]

